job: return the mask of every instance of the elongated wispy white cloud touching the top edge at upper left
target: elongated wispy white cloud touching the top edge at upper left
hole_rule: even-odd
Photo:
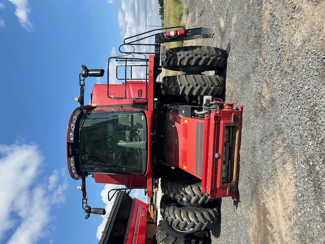
[[[30,8],[27,0],[9,0],[15,8],[15,15],[18,17],[20,25],[26,29],[27,32],[32,31],[32,23],[28,19]]]

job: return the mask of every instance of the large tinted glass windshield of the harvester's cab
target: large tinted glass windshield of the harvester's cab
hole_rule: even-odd
[[[81,121],[80,156],[81,167],[88,173],[144,174],[147,165],[144,112],[86,114]]]

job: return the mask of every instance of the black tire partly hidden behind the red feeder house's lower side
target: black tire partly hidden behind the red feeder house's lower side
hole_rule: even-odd
[[[208,193],[201,193],[201,182],[186,182],[161,178],[161,191],[182,205],[202,206],[212,200]]]

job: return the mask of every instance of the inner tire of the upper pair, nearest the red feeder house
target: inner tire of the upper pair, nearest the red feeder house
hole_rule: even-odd
[[[163,95],[220,96],[224,92],[224,80],[218,75],[164,76],[161,89]]]

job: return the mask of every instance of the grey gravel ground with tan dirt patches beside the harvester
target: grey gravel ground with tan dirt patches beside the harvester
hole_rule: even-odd
[[[239,203],[222,199],[212,243],[325,243],[325,2],[192,1],[188,41],[230,53],[226,101],[244,105]]]

